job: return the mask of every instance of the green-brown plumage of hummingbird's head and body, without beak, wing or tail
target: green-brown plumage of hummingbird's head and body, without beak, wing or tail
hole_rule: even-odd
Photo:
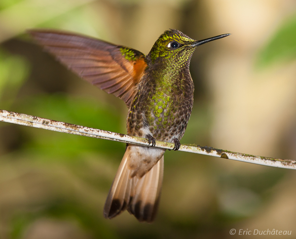
[[[128,133],[143,137],[149,131],[164,141],[182,138],[193,105],[189,61],[194,42],[178,30],[165,31],[157,39],[146,56],[148,66],[130,107]]]

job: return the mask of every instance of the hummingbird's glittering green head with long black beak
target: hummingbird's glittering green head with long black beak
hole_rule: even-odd
[[[230,34],[214,36],[196,41],[186,36],[180,30],[166,30],[159,36],[148,54],[152,64],[157,61],[173,63],[180,67],[189,66],[195,48],[209,41],[220,39]]]

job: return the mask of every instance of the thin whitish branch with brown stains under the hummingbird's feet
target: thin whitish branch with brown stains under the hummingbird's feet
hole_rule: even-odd
[[[80,125],[55,120],[47,120],[36,116],[29,116],[5,110],[0,110],[0,121],[21,124],[35,128],[53,130],[68,134],[83,135],[92,138],[107,139],[124,143],[148,146],[148,140],[144,138],[113,133],[101,129],[88,128]],[[174,144],[156,141],[155,147],[162,149],[173,149]],[[261,164],[271,167],[296,169],[296,161],[289,159],[261,157],[244,153],[231,152],[222,149],[214,149],[211,147],[200,147],[195,145],[181,145],[179,151],[211,155],[215,157],[228,158],[232,160]]]

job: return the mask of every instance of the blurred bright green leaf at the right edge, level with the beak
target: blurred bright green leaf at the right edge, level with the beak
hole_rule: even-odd
[[[257,67],[296,58],[296,14],[286,20],[259,52]]]

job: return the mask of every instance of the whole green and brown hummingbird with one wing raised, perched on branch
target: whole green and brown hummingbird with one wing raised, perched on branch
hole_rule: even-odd
[[[82,79],[125,102],[127,134],[147,138],[151,147],[127,144],[103,215],[111,219],[127,209],[140,222],[153,222],[161,194],[165,152],[154,147],[155,140],[174,143],[174,150],[180,148],[193,106],[191,56],[196,47],[230,34],[196,41],[170,29],[144,55],[72,32],[28,32]]]

